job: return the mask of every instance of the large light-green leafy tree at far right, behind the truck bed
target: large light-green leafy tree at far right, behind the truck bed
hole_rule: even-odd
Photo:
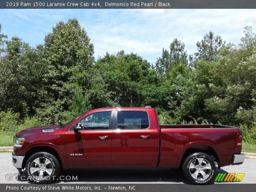
[[[254,125],[256,100],[256,36],[245,28],[241,44],[223,46],[216,61],[197,60],[192,94],[184,102],[184,119]]]

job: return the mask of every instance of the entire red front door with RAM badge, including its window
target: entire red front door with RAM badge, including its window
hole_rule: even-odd
[[[96,112],[78,122],[82,131],[72,128],[66,134],[68,165],[110,165],[114,112]]]

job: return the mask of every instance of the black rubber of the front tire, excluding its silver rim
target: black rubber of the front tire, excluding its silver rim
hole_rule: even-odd
[[[40,157],[47,158],[52,163],[52,174],[50,175],[50,177],[46,176],[46,180],[36,180],[33,178],[33,175],[30,172],[30,166],[31,166],[32,162],[36,158],[40,158]],[[32,155],[26,163],[26,175],[27,175],[27,179],[34,183],[40,184],[40,183],[52,182],[52,180],[56,179],[58,176],[58,161],[52,154],[45,153],[45,152],[36,153],[36,154]]]

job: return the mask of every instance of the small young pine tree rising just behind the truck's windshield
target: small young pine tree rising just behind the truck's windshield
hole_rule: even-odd
[[[83,95],[81,89],[76,90],[75,95],[72,98],[72,104],[68,108],[72,114],[77,117],[84,114],[86,111],[92,109],[92,105],[87,96]]]

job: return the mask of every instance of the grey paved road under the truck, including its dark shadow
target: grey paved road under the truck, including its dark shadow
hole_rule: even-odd
[[[0,183],[27,183],[26,181],[7,180],[6,174],[17,174],[12,166],[11,153],[0,153]],[[256,159],[246,158],[242,165],[226,166],[217,172],[245,173],[240,183],[256,183]],[[24,171],[23,173],[24,174]],[[64,176],[78,176],[76,181],[58,181],[58,183],[186,183],[178,169],[168,168],[127,168],[127,169],[86,169],[68,170]],[[236,183],[236,182],[234,182]]]

